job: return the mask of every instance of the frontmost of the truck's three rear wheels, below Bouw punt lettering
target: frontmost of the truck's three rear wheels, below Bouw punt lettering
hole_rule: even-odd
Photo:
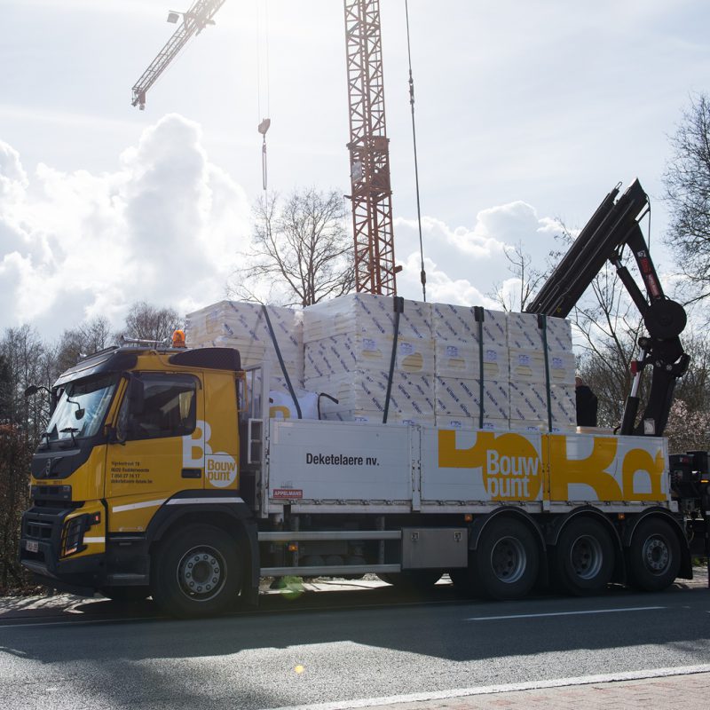
[[[475,594],[520,599],[538,578],[540,550],[525,524],[501,518],[485,526],[472,562],[470,580]]]

